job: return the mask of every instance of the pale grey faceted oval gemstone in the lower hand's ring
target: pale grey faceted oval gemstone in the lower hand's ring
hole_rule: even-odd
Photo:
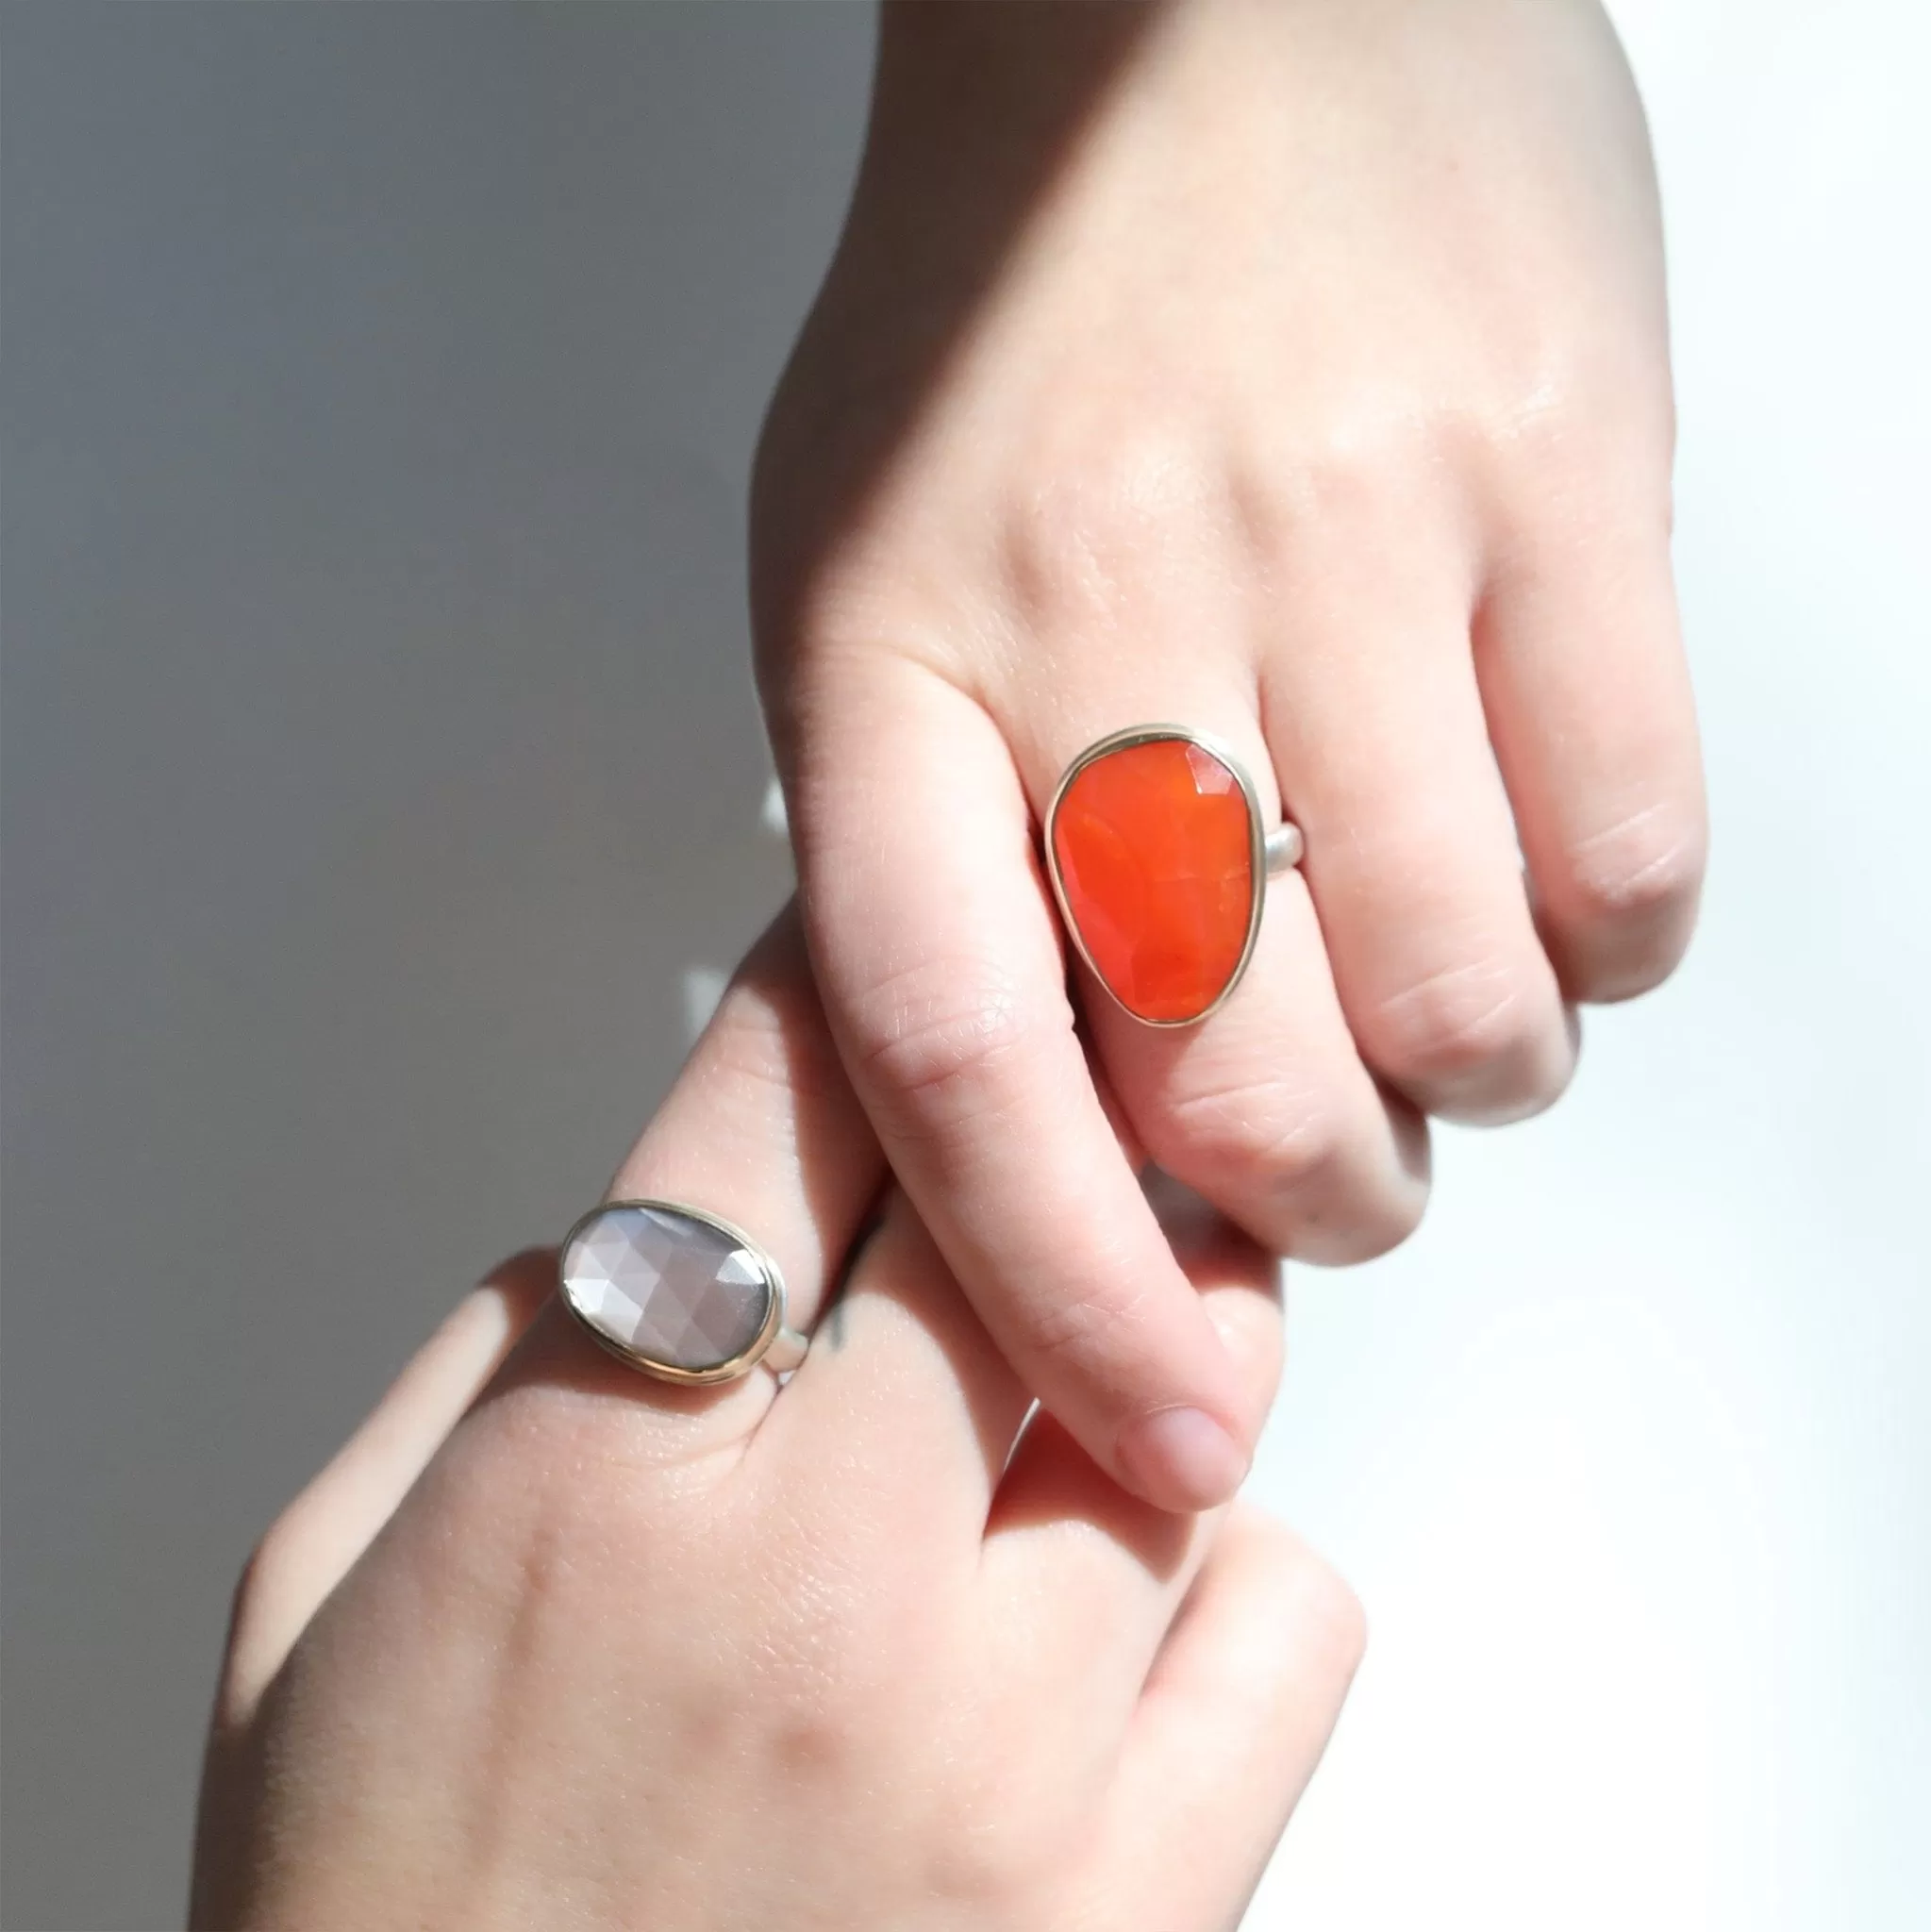
[[[742,1356],[776,1296],[736,1235],[674,1208],[599,1209],[572,1233],[562,1277],[570,1306],[606,1343],[697,1376]]]

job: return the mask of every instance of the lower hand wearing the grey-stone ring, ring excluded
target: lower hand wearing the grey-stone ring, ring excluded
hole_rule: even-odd
[[[809,1325],[877,1180],[780,927],[614,1192],[755,1229]],[[1182,1252],[1263,1405],[1271,1264],[1224,1225]],[[251,1563],[195,1926],[1238,1918],[1361,1644],[1315,1557],[1020,1437],[902,1196],[782,1391],[647,1381],[554,1279],[471,1296]]]

